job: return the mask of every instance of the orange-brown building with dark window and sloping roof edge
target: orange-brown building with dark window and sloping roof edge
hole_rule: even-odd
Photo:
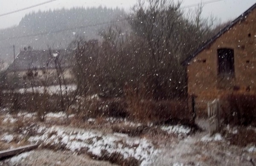
[[[256,94],[256,4],[182,64],[198,116],[207,114],[207,101],[230,93]]]

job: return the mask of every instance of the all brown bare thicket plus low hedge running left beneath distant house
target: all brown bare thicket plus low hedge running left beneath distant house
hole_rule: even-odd
[[[48,111],[69,115],[75,110],[81,119],[112,116],[143,123],[191,123],[192,113],[184,99],[186,72],[180,62],[212,34],[209,22],[201,18],[200,7],[191,17],[180,9],[180,3],[166,0],[148,0],[148,5],[139,1],[132,17],[123,25],[129,31],[122,25],[111,25],[99,32],[101,40],[79,38],[70,44],[75,59],[74,93],[67,93],[58,54],[52,58],[60,93],[47,94],[46,76],[43,93],[34,89],[19,96],[13,93],[10,101],[14,110],[37,111],[41,121]],[[36,77],[28,71],[24,79],[30,82],[29,87],[34,87]],[[87,98],[91,95],[101,99]]]

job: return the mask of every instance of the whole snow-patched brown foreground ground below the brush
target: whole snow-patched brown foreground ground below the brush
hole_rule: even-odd
[[[16,119],[15,119],[16,118]],[[113,133],[113,124],[141,125],[126,119],[88,119],[2,113],[0,150],[30,143],[38,149],[0,160],[1,166],[255,166],[255,144],[236,146],[221,134],[190,132],[179,126],[145,127],[140,135]],[[200,121],[202,128],[207,123]],[[255,130],[256,131],[256,130]],[[236,133],[229,128],[228,132]],[[254,149],[255,148],[255,149]]]

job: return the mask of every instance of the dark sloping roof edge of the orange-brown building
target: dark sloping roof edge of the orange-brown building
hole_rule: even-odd
[[[256,3],[251,6],[247,11],[245,11],[243,14],[241,14],[239,17],[236,18],[232,23],[227,25],[225,28],[221,29],[221,31],[218,32],[214,37],[209,39],[207,42],[204,43],[197,51],[189,55],[183,62],[181,62],[182,65],[188,65],[189,61],[193,59],[195,56],[197,56],[201,51],[203,51],[205,48],[209,47],[209,45],[212,44],[218,37],[221,37],[225,32],[227,32],[230,28],[232,28],[236,23],[238,23],[240,20],[244,20],[244,18],[247,17],[248,14],[250,14],[251,11],[253,11],[256,8]]]

